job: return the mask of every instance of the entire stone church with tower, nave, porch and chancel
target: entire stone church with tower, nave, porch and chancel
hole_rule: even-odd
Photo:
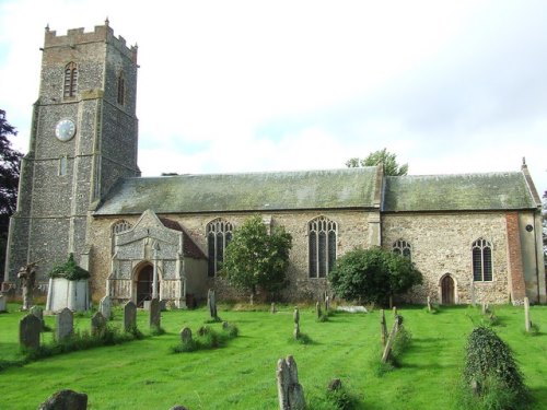
[[[542,203],[524,162],[463,175],[373,166],[141,177],[137,51],[108,21],[62,36],[46,28],[5,289],[34,261],[45,286],[73,254],[95,302],[142,305],[158,293],[183,307],[208,289],[241,297],[218,273],[234,230],[258,214],[293,238],[284,301],[317,300],[337,258],[381,246],[423,274],[406,302],[546,303]]]

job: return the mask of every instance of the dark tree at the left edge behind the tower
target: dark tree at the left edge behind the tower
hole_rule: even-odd
[[[5,119],[5,112],[0,109],[0,272],[5,263],[10,216],[18,204],[19,167],[23,154],[14,150],[8,139],[16,134],[15,128]]]

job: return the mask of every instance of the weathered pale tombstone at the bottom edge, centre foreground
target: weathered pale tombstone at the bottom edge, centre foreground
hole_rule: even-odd
[[[299,383],[299,372],[294,358],[287,356],[287,359],[279,359],[276,375],[279,409],[305,409],[304,389]]]

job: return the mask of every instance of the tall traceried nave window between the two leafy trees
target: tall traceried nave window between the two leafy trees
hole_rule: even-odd
[[[310,278],[325,278],[336,262],[337,224],[318,216],[307,224]]]

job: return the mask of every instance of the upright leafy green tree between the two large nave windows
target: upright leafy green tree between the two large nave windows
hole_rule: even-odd
[[[283,226],[271,234],[260,216],[246,220],[233,233],[226,246],[221,274],[233,286],[247,291],[251,297],[258,289],[278,291],[286,284],[292,236]]]

